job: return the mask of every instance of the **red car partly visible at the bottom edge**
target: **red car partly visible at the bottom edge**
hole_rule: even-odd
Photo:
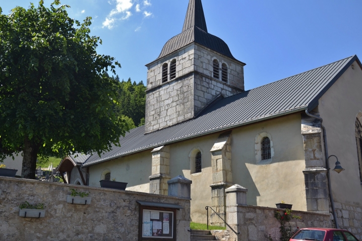
[[[342,229],[306,228],[300,229],[290,241],[359,241],[353,234]]]

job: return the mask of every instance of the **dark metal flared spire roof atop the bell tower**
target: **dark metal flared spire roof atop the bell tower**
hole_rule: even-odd
[[[201,0],[189,1],[181,34],[167,41],[156,60],[193,42],[236,60],[231,54],[229,46],[222,39],[207,32]]]

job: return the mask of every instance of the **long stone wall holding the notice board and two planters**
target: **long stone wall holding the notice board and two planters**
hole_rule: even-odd
[[[89,191],[90,205],[66,203],[70,189]],[[136,200],[179,204],[178,241],[189,241],[190,199],[100,187],[0,177],[0,240],[137,241]],[[45,218],[19,217],[19,204],[44,203]]]

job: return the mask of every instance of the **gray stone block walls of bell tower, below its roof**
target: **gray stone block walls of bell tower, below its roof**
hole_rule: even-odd
[[[220,67],[222,63],[228,65],[228,83],[213,78],[215,58],[220,62]],[[176,77],[170,80],[172,60],[176,60]],[[168,63],[169,67],[166,83],[162,83],[164,63]],[[219,94],[228,97],[244,89],[241,63],[196,44],[150,63],[147,67],[146,133],[189,120]]]

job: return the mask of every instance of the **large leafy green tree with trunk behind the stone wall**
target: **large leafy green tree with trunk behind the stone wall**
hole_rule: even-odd
[[[22,178],[35,179],[38,154],[100,154],[128,130],[114,112],[120,82],[105,74],[121,65],[97,54],[91,18],[73,20],[67,7],[0,10],[0,161],[22,152]]]

